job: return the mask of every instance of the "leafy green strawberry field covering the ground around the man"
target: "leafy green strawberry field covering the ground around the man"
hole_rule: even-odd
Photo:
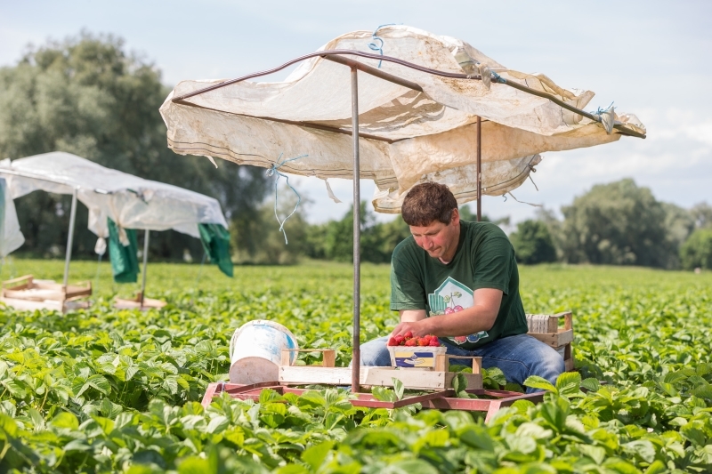
[[[14,261],[61,279],[61,261]],[[0,309],[0,471],[28,472],[712,472],[712,274],[595,267],[522,268],[527,312],[571,309],[577,373],[545,402],[479,414],[354,408],[347,391],[199,405],[227,380],[232,332],[252,319],[286,325],[300,346],[351,358],[348,265],[155,264],[142,314],[110,306],[132,287],[108,266],[93,309],[62,317]],[[362,341],[396,323],[387,266],[362,269]],[[318,353],[303,353],[300,363]],[[485,385],[506,382],[484,374]],[[600,384],[600,382],[605,382]],[[582,390],[583,387],[583,390]],[[511,387],[510,387],[511,388]],[[401,396],[378,390],[377,396]]]

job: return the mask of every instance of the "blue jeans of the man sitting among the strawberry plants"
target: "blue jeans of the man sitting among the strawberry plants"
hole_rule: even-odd
[[[461,349],[445,339],[440,341],[448,349],[448,354],[482,358],[482,367],[498,367],[505,374],[507,382],[518,383],[522,387],[530,375],[538,375],[555,384],[564,370],[561,355],[528,334],[498,339],[473,350]],[[384,336],[361,344],[361,366],[391,366],[387,343],[388,336]],[[450,359],[450,363],[471,364],[467,359]],[[538,390],[527,387],[527,393],[534,391]]]

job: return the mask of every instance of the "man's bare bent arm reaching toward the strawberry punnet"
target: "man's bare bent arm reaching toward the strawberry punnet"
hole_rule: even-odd
[[[413,333],[413,336],[435,334],[442,337],[463,336],[489,331],[495,324],[502,303],[502,291],[480,288],[474,291],[474,306],[447,315],[425,317],[425,309],[401,310],[401,323],[392,336]]]

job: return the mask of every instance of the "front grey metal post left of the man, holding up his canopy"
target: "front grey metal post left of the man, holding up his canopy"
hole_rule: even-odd
[[[360,283],[361,283],[361,199],[359,161],[359,70],[351,68],[351,110],[353,137],[353,358],[351,391],[360,391]]]

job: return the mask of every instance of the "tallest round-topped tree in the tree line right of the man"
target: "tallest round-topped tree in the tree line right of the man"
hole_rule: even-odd
[[[562,251],[567,261],[675,266],[665,207],[631,179],[599,184],[562,207]]]

